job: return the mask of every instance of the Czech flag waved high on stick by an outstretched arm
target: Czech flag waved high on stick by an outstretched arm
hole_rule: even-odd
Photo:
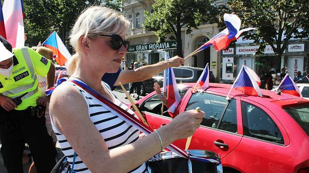
[[[223,18],[227,28],[202,45],[198,50],[199,52],[211,45],[213,45],[217,51],[226,49],[229,44],[232,41],[237,40],[243,32],[256,29],[246,28],[239,31],[241,21],[236,15],[224,14]]]

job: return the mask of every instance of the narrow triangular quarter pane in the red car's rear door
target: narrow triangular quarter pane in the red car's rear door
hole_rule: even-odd
[[[235,99],[232,99],[228,107],[225,109],[223,118],[219,125],[219,129],[237,133],[237,113]]]

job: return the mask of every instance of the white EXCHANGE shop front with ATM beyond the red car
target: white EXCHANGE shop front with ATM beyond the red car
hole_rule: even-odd
[[[299,29],[301,30],[301,29]],[[284,39],[284,38],[283,38]],[[270,45],[266,45],[264,54],[256,55],[259,45],[253,40],[240,37],[235,47],[222,50],[221,82],[232,83],[242,65],[252,68],[258,76],[274,71],[280,73],[285,68],[293,79],[297,71],[309,74],[309,40],[291,38],[281,57],[277,57]]]

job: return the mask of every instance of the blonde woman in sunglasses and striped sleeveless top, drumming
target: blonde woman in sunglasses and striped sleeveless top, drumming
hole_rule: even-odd
[[[129,42],[124,40],[128,26],[129,21],[118,11],[99,6],[86,9],[70,36],[78,52],[77,67],[70,79],[92,88],[137,118],[102,83],[104,73],[117,72],[119,60],[127,53]],[[169,124],[139,139],[139,130],[107,111],[107,105],[71,81],[55,88],[50,108],[53,129],[69,164],[72,166],[76,153],[74,171],[83,173],[145,173],[145,162],[150,157],[175,140],[192,135],[205,117],[203,111],[183,111]]]

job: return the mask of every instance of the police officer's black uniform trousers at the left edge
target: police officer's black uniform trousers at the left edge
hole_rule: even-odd
[[[1,154],[8,173],[23,173],[22,156],[25,143],[29,145],[38,173],[50,173],[55,166],[56,149],[48,134],[45,117],[10,117],[0,111]]]

